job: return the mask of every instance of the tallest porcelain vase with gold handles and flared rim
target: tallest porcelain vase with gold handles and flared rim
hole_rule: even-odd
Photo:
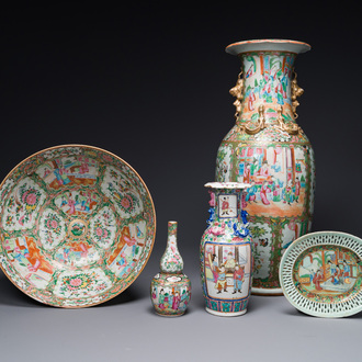
[[[310,143],[297,125],[296,55],[310,49],[295,41],[248,41],[226,52],[241,60],[236,124],[223,139],[216,181],[246,182],[245,210],[253,238],[253,294],[281,295],[283,252],[309,231],[314,208],[315,161]]]

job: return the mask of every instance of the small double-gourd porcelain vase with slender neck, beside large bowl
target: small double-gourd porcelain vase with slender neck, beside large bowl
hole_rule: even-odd
[[[183,260],[177,245],[177,222],[168,223],[168,240],[160,260],[161,272],[150,285],[155,312],[161,316],[177,317],[185,313],[191,298],[191,281],[183,274]]]

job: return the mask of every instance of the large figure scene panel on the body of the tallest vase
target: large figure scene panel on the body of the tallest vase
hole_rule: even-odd
[[[303,213],[307,168],[303,148],[245,147],[237,161],[238,181],[251,184],[242,199],[250,215]]]

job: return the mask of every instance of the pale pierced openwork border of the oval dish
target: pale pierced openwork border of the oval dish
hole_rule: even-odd
[[[340,231],[310,233],[296,239],[284,252],[279,270],[279,280],[287,301],[301,312],[327,318],[347,317],[362,310],[362,289],[350,299],[339,303],[313,302],[301,294],[293,282],[293,268],[298,256],[315,246],[340,246],[362,259],[362,239]]]

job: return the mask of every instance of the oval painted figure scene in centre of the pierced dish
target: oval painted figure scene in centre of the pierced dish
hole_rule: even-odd
[[[307,253],[297,270],[303,289],[315,294],[343,294],[349,292],[361,270],[353,254],[343,249]]]

